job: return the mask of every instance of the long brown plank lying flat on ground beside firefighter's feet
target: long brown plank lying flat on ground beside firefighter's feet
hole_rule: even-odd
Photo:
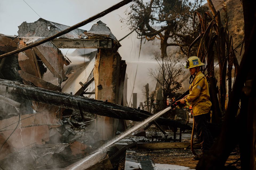
[[[137,143],[137,149],[184,149],[189,148],[190,142],[157,142],[157,143]],[[200,149],[200,144],[194,145]]]

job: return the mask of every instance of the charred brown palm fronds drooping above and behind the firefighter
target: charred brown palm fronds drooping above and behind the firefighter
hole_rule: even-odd
[[[215,77],[214,60],[218,59],[218,77],[220,83],[219,107],[221,108],[222,113],[225,113],[225,105],[227,102],[226,77],[228,79],[228,91],[231,92],[231,72],[233,65],[236,70],[238,70],[239,65],[235,56],[232,36],[229,36],[227,6],[225,2],[223,2],[223,10],[225,12],[225,25],[222,24],[219,11],[217,11],[214,16],[211,15],[210,12],[204,12],[202,15],[199,12],[194,13],[193,28],[194,32],[197,32],[198,35],[197,39],[190,45],[187,56],[189,57],[192,46],[197,47],[197,56],[206,64],[202,71],[207,71],[208,76],[213,78]],[[197,27],[195,27],[196,23]],[[214,86],[214,84],[212,85]],[[216,100],[218,99],[216,98]],[[218,104],[217,101],[215,103]]]

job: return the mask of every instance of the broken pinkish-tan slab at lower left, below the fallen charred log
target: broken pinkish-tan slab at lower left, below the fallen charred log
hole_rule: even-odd
[[[56,119],[54,114],[44,112],[31,115],[33,114],[21,115],[20,121],[19,116],[0,121],[0,133],[1,139],[3,139],[0,145],[3,145],[12,133],[7,141],[8,145],[5,144],[2,148],[1,155],[9,154],[23,147],[30,148],[34,143],[46,143],[50,139],[49,129],[60,126],[59,120]]]

